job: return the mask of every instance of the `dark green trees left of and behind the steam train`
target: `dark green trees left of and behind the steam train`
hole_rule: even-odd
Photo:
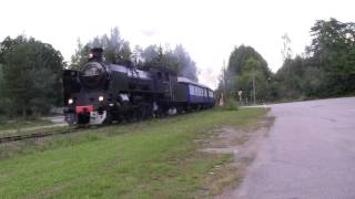
[[[78,70],[84,64],[91,48],[103,48],[106,63],[128,62],[136,67],[162,66],[179,75],[197,81],[195,62],[180,44],[174,49],[156,44],[132,50],[118,28],[110,34],[95,36],[88,43],[78,40],[70,63],[60,51],[34,38],[7,36],[0,43],[0,117],[48,114],[62,105],[62,70]]]

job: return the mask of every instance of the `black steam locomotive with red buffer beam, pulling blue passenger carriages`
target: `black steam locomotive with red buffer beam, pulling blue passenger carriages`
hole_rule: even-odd
[[[103,50],[92,49],[79,71],[63,72],[64,115],[69,124],[141,119],[214,106],[207,86],[165,67],[138,70],[105,64]]]

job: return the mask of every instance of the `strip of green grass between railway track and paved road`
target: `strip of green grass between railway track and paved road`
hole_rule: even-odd
[[[253,125],[265,113],[206,111],[33,142],[27,145],[30,149],[0,160],[0,196],[199,197],[209,171],[231,156],[203,154],[195,139],[225,124]]]

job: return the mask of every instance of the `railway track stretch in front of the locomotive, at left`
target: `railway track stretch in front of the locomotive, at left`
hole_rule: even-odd
[[[29,133],[29,134],[22,134],[22,135],[2,136],[0,137],[0,144],[31,139],[31,138],[42,138],[42,137],[48,137],[53,135],[70,134],[70,133],[78,132],[79,129],[80,128],[75,127],[75,128],[58,129],[58,130],[51,130],[51,132],[38,132],[38,133]]]

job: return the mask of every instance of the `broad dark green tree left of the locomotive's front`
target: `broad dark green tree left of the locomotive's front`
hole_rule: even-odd
[[[60,104],[64,63],[59,51],[20,35],[7,38],[1,43],[1,54],[2,96],[11,115],[48,113],[52,105]]]

